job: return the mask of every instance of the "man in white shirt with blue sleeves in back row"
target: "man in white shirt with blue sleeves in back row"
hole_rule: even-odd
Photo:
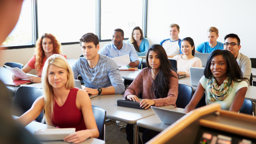
[[[169,27],[170,38],[162,40],[160,45],[166,51],[168,58],[173,58],[176,55],[182,54],[181,52],[181,39],[179,38],[180,26],[171,24]]]

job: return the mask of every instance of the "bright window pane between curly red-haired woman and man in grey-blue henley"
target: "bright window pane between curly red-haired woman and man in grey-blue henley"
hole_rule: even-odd
[[[79,42],[96,33],[95,0],[38,0],[38,37],[52,33],[60,43]]]

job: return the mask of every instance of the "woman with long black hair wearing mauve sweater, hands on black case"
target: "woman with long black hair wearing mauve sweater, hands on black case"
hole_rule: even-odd
[[[140,107],[174,105],[178,96],[178,75],[167,58],[161,45],[151,45],[146,54],[147,68],[141,70],[131,85],[125,90],[124,98],[140,102]],[[142,100],[137,95],[142,93]],[[159,132],[139,127],[143,133],[142,141],[146,143]],[[133,125],[126,126],[127,140],[133,141]],[[139,143],[141,141],[139,140]]]

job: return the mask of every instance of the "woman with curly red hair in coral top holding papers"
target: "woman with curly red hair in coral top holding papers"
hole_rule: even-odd
[[[25,73],[30,72],[32,69],[36,69],[37,77],[27,77],[32,82],[41,82],[42,69],[45,61],[53,54],[61,54],[61,44],[52,35],[45,33],[36,41],[35,55],[29,60],[29,62],[21,69]],[[65,55],[62,55],[67,58]],[[20,78],[12,75],[12,80],[19,80]]]

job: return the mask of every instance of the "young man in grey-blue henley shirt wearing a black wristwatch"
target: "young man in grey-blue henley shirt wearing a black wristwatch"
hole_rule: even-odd
[[[88,94],[113,95],[124,93],[124,83],[117,63],[107,56],[98,54],[99,38],[86,33],[80,39],[84,57],[72,67],[74,77],[82,76]]]

